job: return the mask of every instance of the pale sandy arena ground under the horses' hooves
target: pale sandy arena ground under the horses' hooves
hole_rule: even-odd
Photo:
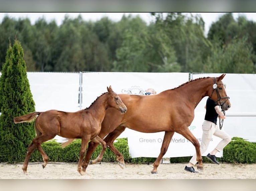
[[[160,164],[158,174],[151,174],[152,164],[126,164],[121,169],[117,163],[89,165],[84,176],[77,172],[77,163],[29,163],[27,175],[22,163],[0,163],[0,179],[255,179],[256,164],[204,163],[204,172],[190,173],[186,164]],[[197,168],[195,168],[197,170]]]

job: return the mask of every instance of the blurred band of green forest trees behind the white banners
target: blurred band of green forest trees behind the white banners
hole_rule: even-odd
[[[27,71],[256,72],[256,23],[245,16],[234,19],[232,13],[224,14],[207,35],[200,15],[151,16],[154,19],[147,24],[131,15],[118,22],[107,17],[88,22],[81,15],[66,15],[59,26],[44,18],[31,25],[28,18],[6,16],[0,24],[0,70],[9,39],[16,37],[23,45]],[[239,67],[231,67],[231,49],[236,52],[233,66],[239,62]]]

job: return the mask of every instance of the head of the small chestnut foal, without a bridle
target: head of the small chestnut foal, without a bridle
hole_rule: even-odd
[[[121,113],[125,113],[127,111],[127,107],[121,100],[121,98],[112,90],[111,86],[108,88],[108,105],[109,107],[114,107],[115,109],[121,111]]]

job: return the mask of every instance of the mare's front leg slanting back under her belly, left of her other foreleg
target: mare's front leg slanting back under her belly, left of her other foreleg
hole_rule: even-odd
[[[170,144],[173,134],[174,134],[174,131],[165,131],[160,154],[156,158],[155,162],[153,163],[153,170],[151,170],[152,174],[157,174],[157,167],[159,166],[159,163],[160,163],[161,159],[163,158],[163,155],[167,152],[167,149],[168,149],[168,146]]]

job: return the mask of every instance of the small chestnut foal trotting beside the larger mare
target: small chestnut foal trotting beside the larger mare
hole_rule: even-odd
[[[37,115],[35,120],[36,138],[28,146],[28,151],[22,170],[27,174],[27,165],[32,152],[37,148],[43,157],[42,167],[44,168],[48,162],[48,156],[41,147],[41,143],[54,138],[56,135],[65,138],[81,138],[80,158],[77,166],[77,171],[85,174],[85,169],[82,171],[82,160],[86,151],[89,140],[101,144],[103,150],[106,149],[106,142],[99,136],[101,123],[106,113],[107,108],[114,108],[121,113],[125,113],[127,108],[120,97],[113,92],[111,86],[108,92],[99,96],[90,107],[77,112],[64,112],[58,110],[48,110],[45,112],[33,112],[20,117],[14,117],[15,123],[31,122]]]

